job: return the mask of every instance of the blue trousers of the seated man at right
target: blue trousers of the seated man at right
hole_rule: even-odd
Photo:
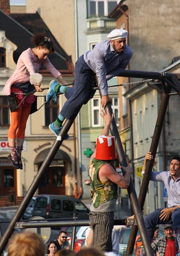
[[[150,241],[152,241],[152,238],[154,235],[154,227],[158,224],[172,224],[175,234],[176,234],[176,230],[180,228],[180,208],[177,208],[176,210],[174,210],[173,213],[171,213],[171,215],[169,216],[169,219],[167,221],[162,221],[159,218],[159,216],[161,215],[160,211],[163,209],[164,208],[157,209],[145,217],[144,222],[145,222],[145,227],[147,229],[147,233],[152,234],[152,237],[150,237]]]

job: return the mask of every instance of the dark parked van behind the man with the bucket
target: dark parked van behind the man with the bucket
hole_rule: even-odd
[[[89,219],[89,209],[79,199],[63,195],[37,195],[33,216],[45,219],[61,218],[78,220]]]

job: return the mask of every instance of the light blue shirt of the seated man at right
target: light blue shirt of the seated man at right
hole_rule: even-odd
[[[168,207],[180,205],[180,177],[175,181],[170,171],[152,171],[150,180],[164,182],[168,195]]]

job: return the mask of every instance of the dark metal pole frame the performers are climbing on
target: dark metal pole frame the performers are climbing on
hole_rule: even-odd
[[[162,85],[163,85],[163,98],[162,102],[160,105],[160,110],[158,114],[158,119],[156,122],[155,130],[154,130],[154,135],[152,139],[152,145],[150,148],[150,151],[152,152],[153,156],[156,155],[156,150],[158,146],[158,141],[160,138],[160,133],[162,130],[163,126],[163,121],[167,109],[167,104],[169,101],[169,93],[171,91],[171,88],[173,88],[179,95],[180,95],[180,85],[178,83],[176,74],[170,74],[170,73],[160,73],[160,72],[142,72],[142,71],[133,71],[133,70],[125,70],[124,72],[121,72],[119,76],[124,76],[124,77],[134,77],[134,78],[149,78],[149,79],[156,79],[156,80],[162,80]],[[107,104],[106,108],[109,109],[110,113],[112,113],[112,108],[111,104]],[[78,114],[78,113],[77,113]],[[76,115],[77,115],[76,114]],[[46,157],[46,159],[43,161],[43,164],[41,165],[39,171],[37,172],[37,175],[35,176],[32,184],[30,185],[26,195],[24,196],[22,203],[20,204],[19,208],[17,209],[13,219],[11,220],[6,232],[2,236],[2,239],[0,241],[0,255],[4,251],[8,240],[10,236],[13,234],[13,231],[17,225],[17,223],[20,221],[24,211],[26,210],[26,207],[28,206],[31,198],[35,194],[35,191],[37,190],[43,176],[46,174],[46,171],[48,170],[48,167],[50,166],[50,163],[52,162],[56,152],[59,150],[63,139],[67,132],[69,131],[70,127],[72,126],[76,116],[72,120],[66,120],[65,124],[63,125],[63,128],[61,129],[59,136],[56,138],[54,141],[52,147],[50,148],[49,154]],[[126,161],[126,156],[124,154],[123,146],[121,143],[121,139],[119,137],[119,132],[117,129],[117,125],[115,123],[115,119],[113,119],[111,126],[110,126],[111,134],[116,137],[116,150],[117,150],[117,156],[120,165],[126,167],[127,166],[127,161]],[[143,179],[143,183],[141,186],[141,191],[139,196],[139,200],[136,195],[136,191],[134,189],[134,184],[132,182],[132,179],[130,180],[130,185],[128,188],[128,194],[130,197],[130,202],[132,206],[132,210],[135,215],[135,219],[137,222],[137,226],[132,227],[132,231],[130,234],[130,239],[128,242],[128,247],[126,251],[126,255],[130,255],[133,250],[133,245],[135,242],[135,237],[137,234],[137,227],[139,228],[139,232],[141,235],[141,239],[143,241],[143,245],[145,248],[145,253],[148,256],[153,256],[153,251],[152,247],[150,244],[150,240],[147,236],[147,231],[145,229],[145,223],[143,220],[143,215],[142,215],[142,209],[145,201],[145,196],[147,193],[147,187],[149,184],[150,180],[150,174],[152,171],[152,166],[153,166],[153,161],[147,161],[147,170],[145,173],[145,178]]]

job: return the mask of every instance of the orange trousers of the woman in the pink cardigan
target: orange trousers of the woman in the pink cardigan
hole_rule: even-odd
[[[20,100],[17,99],[17,104],[20,104]],[[24,139],[26,123],[30,114],[31,104],[24,107],[22,105],[14,112],[11,112],[11,124],[8,131],[8,138]]]

